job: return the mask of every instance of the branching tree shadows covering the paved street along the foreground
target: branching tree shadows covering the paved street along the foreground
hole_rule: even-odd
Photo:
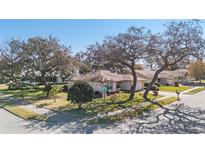
[[[90,124],[87,121],[92,117],[71,118],[66,120],[59,115],[53,115],[51,119],[61,119],[55,123],[52,121],[33,121],[26,127],[42,127],[51,133],[92,134],[97,133],[148,133],[148,134],[198,134],[205,133],[205,110],[191,108],[184,104],[169,106],[167,110],[161,108],[155,111],[144,112],[138,117],[126,119],[115,123]]]

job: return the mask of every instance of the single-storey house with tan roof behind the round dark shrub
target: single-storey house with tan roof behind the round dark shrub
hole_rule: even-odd
[[[94,73],[88,73],[73,77],[68,81],[68,87],[71,87],[74,81],[86,81],[94,89],[94,91],[101,92],[101,87],[106,85],[109,92],[116,92],[118,90],[130,90],[132,85],[132,76],[130,74],[117,74],[108,70],[100,70]],[[137,79],[136,91],[144,89],[144,79]]]

